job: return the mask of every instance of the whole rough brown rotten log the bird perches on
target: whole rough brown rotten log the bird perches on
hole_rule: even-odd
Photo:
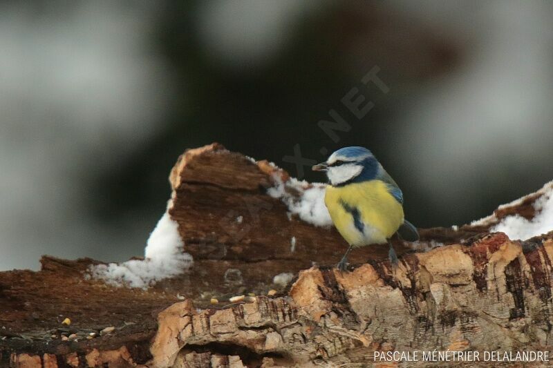
[[[364,367],[375,351],[550,350],[553,233],[520,242],[488,232],[506,215],[532,218],[543,193],[475,226],[420,229],[422,245],[445,245],[397,243],[395,272],[375,246],[341,274],[335,229],[267,195],[288,179],[219,144],[187,151],[171,171],[169,215],[191,269],[146,290],[86,278],[100,263],[90,259],[1,272],[0,366]],[[280,273],[294,280],[274,284]]]

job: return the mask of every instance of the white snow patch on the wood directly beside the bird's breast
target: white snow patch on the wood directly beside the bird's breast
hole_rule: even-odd
[[[283,182],[277,175],[273,177],[276,185],[269,188],[267,193],[273,198],[281,199],[288,206],[290,213],[315,226],[332,225],[330,214],[324,204],[326,184],[309,184],[305,180],[299,181],[293,177]]]

